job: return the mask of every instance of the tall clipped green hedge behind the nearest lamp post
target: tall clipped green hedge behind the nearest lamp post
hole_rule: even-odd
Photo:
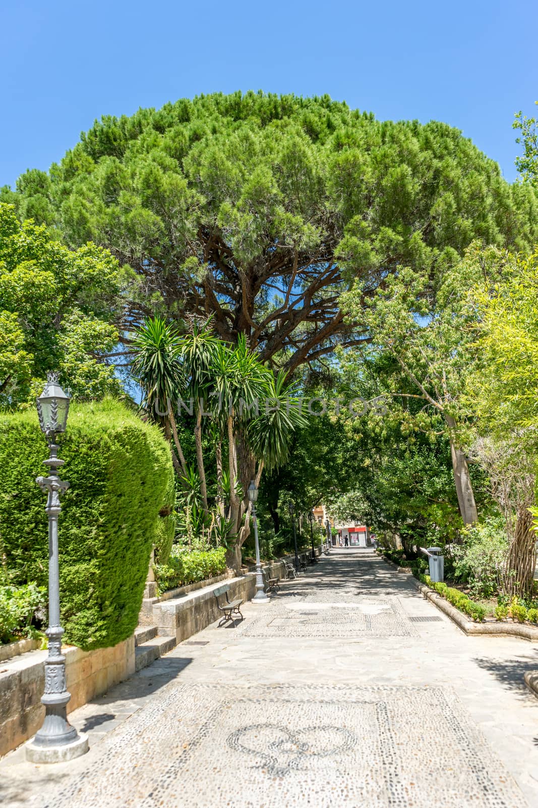
[[[10,582],[48,583],[44,436],[33,412],[0,415],[0,555]],[[60,609],[65,642],[113,646],[136,628],[173,474],[161,432],[112,400],[74,405],[60,438]]]

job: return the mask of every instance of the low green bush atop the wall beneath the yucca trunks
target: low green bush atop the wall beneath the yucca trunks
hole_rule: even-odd
[[[159,592],[162,593],[176,587],[186,587],[189,583],[206,581],[225,571],[224,547],[200,552],[173,547],[168,562],[156,565],[155,578]]]

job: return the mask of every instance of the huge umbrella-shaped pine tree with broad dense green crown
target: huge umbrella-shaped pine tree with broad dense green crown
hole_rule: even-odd
[[[523,249],[538,221],[532,187],[446,124],[252,92],[104,117],[4,198],[133,267],[131,327],[212,314],[219,338],[245,335],[288,370],[368,339],[340,309],[353,282],[369,297],[398,267],[453,265],[475,238]]]

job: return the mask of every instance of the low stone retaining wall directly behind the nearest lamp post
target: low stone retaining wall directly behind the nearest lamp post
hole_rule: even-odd
[[[63,653],[71,693],[68,712],[135,672],[134,637],[113,648],[83,651],[69,646]],[[47,654],[48,651],[29,651],[0,663],[0,755],[31,738],[43,722],[41,696]]]

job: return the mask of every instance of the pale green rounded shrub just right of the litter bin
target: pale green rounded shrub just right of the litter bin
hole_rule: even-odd
[[[469,585],[473,597],[497,595],[503,582],[508,541],[503,520],[489,519],[462,531],[462,545],[453,545],[456,580]]]

